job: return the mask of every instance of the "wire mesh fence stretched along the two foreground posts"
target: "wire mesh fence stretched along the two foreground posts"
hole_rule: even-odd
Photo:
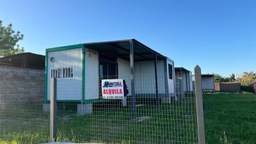
[[[11,76],[17,75],[15,72],[0,74],[0,143],[49,142],[50,115],[43,107],[49,104],[51,88],[47,86],[44,93],[42,79]],[[131,75],[115,78],[126,81],[129,90],[126,107],[121,99],[102,98],[101,80],[111,76],[86,77],[85,81],[57,79],[57,141],[198,143],[192,82],[179,77],[181,81],[176,84],[181,90],[175,90],[175,78],[168,79],[166,74],[134,75],[134,83]],[[79,112],[88,109],[92,111]]]

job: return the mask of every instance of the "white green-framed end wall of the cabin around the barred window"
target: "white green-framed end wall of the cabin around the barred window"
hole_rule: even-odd
[[[82,99],[81,48],[48,52],[47,63],[47,100],[50,99],[51,70],[72,67],[73,76],[57,78],[57,100]],[[50,58],[54,57],[54,62]],[[62,71],[62,70],[61,70]]]

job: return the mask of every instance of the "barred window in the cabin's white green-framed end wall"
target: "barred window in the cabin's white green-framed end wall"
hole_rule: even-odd
[[[74,67],[53,68],[51,77],[56,78],[74,78]]]

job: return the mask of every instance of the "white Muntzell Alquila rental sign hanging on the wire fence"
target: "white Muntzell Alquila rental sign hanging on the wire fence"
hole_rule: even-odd
[[[103,99],[124,99],[123,79],[102,79]]]

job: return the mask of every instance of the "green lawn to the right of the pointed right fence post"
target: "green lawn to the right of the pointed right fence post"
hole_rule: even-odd
[[[256,143],[255,94],[204,93],[204,108],[206,143]]]

